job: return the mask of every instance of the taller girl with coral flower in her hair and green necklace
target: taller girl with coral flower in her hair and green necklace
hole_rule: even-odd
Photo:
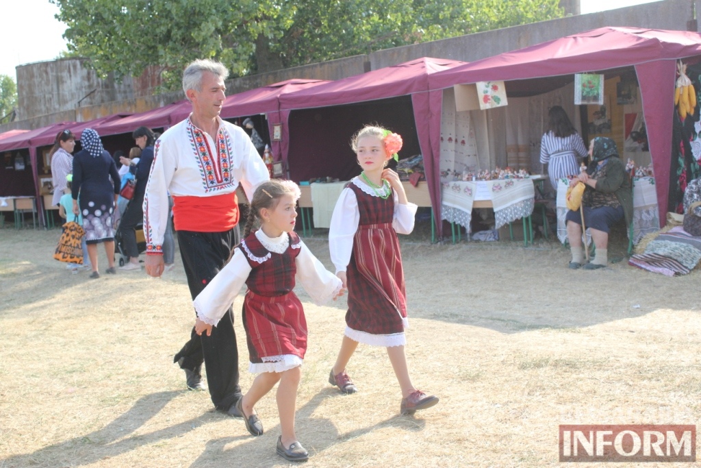
[[[411,384],[404,355],[407,297],[399,250],[400,234],[414,229],[416,205],[386,163],[402,148],[396,133],[366,126],[352,141],[362,173],[348,182],[336,202],[329,229],[331,261],[336,275],[348,285],[346,332],[329,383],[341,392],[357,391],[346,373],[358,342],[387,347],[402,389],[400,413],[413,414],[438,403]]]

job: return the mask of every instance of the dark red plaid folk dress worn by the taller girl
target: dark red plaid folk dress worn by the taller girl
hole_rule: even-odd
[[[399,239],[395,230],[397,208],[409,213],[408,232],[414,225],[415,205],[395,206],[393,194],[386,199],[369,194],[362,182],[355,180],[346,186],[357,201],[358,229],[353,235],[351,257],[346,267],[348,286],[348,312],[346,312],[346,336],[369,345],[400,346],[406,344],[404,327],[407,322],[407,295],[404,289],[404,270]],[[346,194],[348,196],[349,194]],[[343,194],[341,194],[343,196]],[[342,203],[339,201],[339,203]],[[343,216],[343,207],[334,217]],[[404,213],[404,218],[407,218]],[[329,230],[329,246],[335,248],[337,226],[332,220]],[[407,233],[404,229],[404,233]],[[334,255],[332,255],[334,260]],[[336,264],[336,260],[334,260]],[[340,265],[336,264],[339,269]]]

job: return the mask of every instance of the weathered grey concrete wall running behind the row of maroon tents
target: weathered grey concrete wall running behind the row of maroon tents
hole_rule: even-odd
[[[276,72],[244,76],[226,82],[226,93],[236,94],[293,78],[336,80],[421,57],[451,58],[472,62],[569,34],[604,26],[697,30],[694,5],[701,0],[664,0],[588,15],[537,22],[377,51],[369,55],[330,60]],[[566,11],[579,11],[578,0],[562,0]],[[118,112],[144,112],[184,99],[182,91],[150,95],[154,76],[127,80],[118,85],[100,81],[91,70],[80,67],[80,59],[62,59],[18,67],[18,93],[22,120],[0,126],[0,133],[13,128],[34,129],[58,121],[86,121]],[[154,72],[155,73],[155,72]],[[135,83],[136,81],[136,83]],[[78,100],[97,88],[81,102]],[[25,100],[28,100],[25,103]],[[63,107],[62,107],[63,106]],[[32,119],[26,116],[32,115]]]

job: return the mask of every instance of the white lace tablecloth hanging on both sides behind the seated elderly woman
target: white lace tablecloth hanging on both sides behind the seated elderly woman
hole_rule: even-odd
[[[566,178],[557,180],[557,239],[565,243],[567,240],[567,227],[565,215],[567,214],[567,187],[569,180]],[[657,188],[654,177],[633,178],[633,236],[634,244],[639,243],[646,234],[660,230],[660,214],[658,212]],[[630,237],[630,232],[628,232]]]

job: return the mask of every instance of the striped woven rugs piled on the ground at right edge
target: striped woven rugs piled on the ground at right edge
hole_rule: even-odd
[[[629,265],[665,276],[688,274],[701,260],[701,237],[681,226],[669,229],[648,243],[645,253],[632,255]]]

